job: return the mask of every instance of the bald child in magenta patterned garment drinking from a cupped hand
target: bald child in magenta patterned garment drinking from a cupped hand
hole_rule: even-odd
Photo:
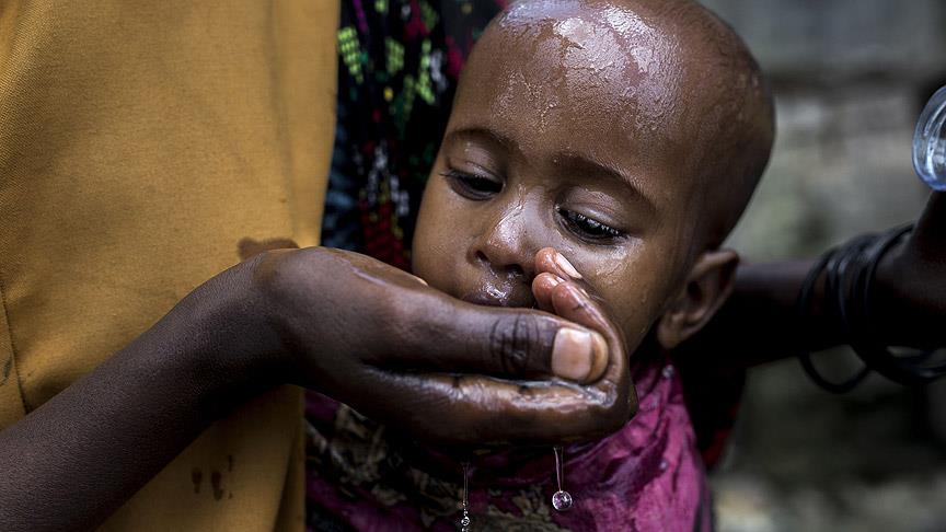
[[[702,463],[666,351],[731,288],[738,257],[718,246],[772,135],[754,61],[691,2],[522,1],[491,24],[424,195],[414,273],[468,301],[534,305],[597,331],[612,358],[587,368],[603,373],[595,390],[633,404],[636,389],[639,407],[626,424],[592,420],[603,438],[567,449],[566,512],[549,504],[550,449],[473,458],[474,529],[708,529]],[[528,401],[532,391],[517,393]],[[346,407],[328,410],[313,436],[318,521],[455,527],[455,461],[402,444]]]

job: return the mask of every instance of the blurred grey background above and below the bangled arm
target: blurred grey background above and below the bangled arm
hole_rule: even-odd
[[[946,83],[942,0],[704,0],[773,83],[777,137],[730,245],[751,261],[814,257],[915,218],[916,117]],[[841,377],[844,350],[816,359]],[[832,395],[796,360],[751,370],[723,464],[720,531],[946,530],[946,382],[872,377]]]

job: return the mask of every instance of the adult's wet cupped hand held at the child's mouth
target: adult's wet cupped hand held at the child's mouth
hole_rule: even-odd
[[[415,438],[574,441],[633,410],[618,390],[624,351],[593,314],[465,303],[337,250],[270,252],[252,267],[253,308],[285,346],[280,371]]]

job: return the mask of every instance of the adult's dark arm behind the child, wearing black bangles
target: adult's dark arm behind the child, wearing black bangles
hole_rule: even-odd
[[[674,356],[695,366],[739,368],[846,344],[821,312],[823,279],[811,294],[809,320],[798,320],[796,300],[814,266],[815,261],[740,266],[730,299]],[[946,345],[946,194],[934,193],[913,233],[881,257],[875,290],[872,325],[888,345]]]

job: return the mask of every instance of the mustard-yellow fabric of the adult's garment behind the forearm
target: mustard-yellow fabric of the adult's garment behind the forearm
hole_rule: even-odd
[[[337,2],[0,0],[0,427],[238,243],[318,243]],[[105,530],[301,530],[298,389],[210,427]],[[64,494],[68,496],[68,494]]]

